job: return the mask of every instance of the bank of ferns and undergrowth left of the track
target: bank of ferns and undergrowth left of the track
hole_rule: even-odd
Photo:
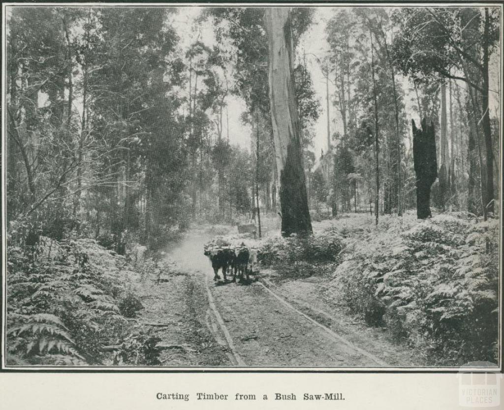
[[[24,229],[11,226],[7,239],[7,363],[159,364],[159,339],[136,326],[136,286],[159,270],[146,248],[125,257],[79,237],[26,246]]]

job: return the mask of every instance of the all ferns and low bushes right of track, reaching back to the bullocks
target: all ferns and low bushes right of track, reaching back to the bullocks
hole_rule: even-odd
[[[408,212],[375,228],[367,219],[346,215],[314,224],[308,239],[264,240],[260,261],[280,280],[326,276],[335,308],[386,329],[426,363],[497,363],[498,220],[452,212],[418,221]]]

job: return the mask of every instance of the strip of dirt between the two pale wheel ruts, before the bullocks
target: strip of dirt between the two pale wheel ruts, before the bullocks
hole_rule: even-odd
[[[215,286],[214,298],[238,354],[250,366],[348,367],[385,363],[275,298],[260,282]]]

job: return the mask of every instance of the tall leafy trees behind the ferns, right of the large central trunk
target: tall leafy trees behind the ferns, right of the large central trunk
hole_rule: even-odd
[[[335,131],[318,164],[333,215],[375,207],[401,215],[415,205],[411,119],[424,118],[436,135],[433,205],[494,212],[497,17],[496,8],[334,11],[319,57],[332,77]]]

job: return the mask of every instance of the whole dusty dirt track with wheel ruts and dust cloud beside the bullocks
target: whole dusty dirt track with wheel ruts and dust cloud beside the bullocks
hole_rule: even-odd
[[[248,284],[214,282],[203,255],[211,237],[195,231],[172,249],[170,273],[143,299],[164,366],[415,365],[405,348],[324,304],[316,281],[275,283],[265,270]]]

